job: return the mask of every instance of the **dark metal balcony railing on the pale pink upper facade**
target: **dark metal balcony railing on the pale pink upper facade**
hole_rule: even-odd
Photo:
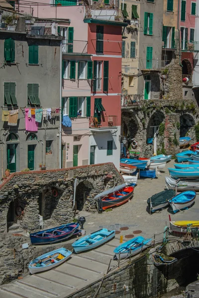
[[[66,54],[87,54],[88,41],[85,40],[63,40],[62,52]]]

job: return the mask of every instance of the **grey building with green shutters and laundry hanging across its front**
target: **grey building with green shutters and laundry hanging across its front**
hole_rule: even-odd
[[[24,18],[13,21],[12,26],[2,24],[1,22],[0,178],[6,168],[10,172],[24,168],[39,170],[41,166],[46,169],[58,168],[58,109],[57,114],[48,110],[46,118],[43,111],[37,110],[40,116],[42,114],[41,122],[35,122],[34,115],[36,108],[60,107],[62,38],[57,36],[57,24],[48,20]],[[11,115],[15,112],[15,115]],[[7,113],[11,116],[7,116]]]

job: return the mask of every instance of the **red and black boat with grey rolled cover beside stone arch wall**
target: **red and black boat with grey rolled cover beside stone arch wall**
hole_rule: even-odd
[[[98,212],[113,206],[119,206],[130,200],[133,196],[134,188],[128,186],[128,183],[120,184],[115,187],[109,188],[102,193],[95,196],[94,200],[97,203]]]

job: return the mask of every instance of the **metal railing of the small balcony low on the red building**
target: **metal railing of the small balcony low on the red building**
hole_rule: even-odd
[[[117,116],[90,117],[90,128],[104,129],[117,126]]]

